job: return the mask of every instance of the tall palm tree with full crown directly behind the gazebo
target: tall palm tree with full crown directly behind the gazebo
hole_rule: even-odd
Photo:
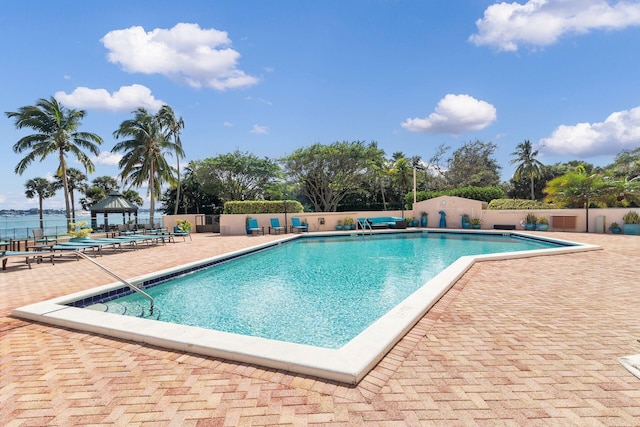
[[[166,153],[176,153],[176,144],[169,141],[162,132],[158,115],[151,115],[144,108],[138,108],[133,119],[125,120],[113,133],[116,139],[127,138],[116,143],[112,152],[123,152],[118,163],[120,178],[125,184],[138,187],[149,185],[149,221],[153,224],[155,199],[160,196],[164,182],[173,180],[173,168],[167,163]]]

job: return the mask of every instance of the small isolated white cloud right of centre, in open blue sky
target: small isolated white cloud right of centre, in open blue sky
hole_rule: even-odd
[[[480,130],[496,120],[496,108],[469,95],[448,94],[424,119],[407,119],[401,126],[409,132],[458,134]]]

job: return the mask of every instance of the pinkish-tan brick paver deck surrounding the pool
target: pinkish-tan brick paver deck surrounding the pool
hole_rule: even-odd
[[[0,425],[640,425],[640,238],[476,264],[354,387],[13,318],[113,279],[72,258],[0,272]],[[109,253],[125,278],[276,239]]]

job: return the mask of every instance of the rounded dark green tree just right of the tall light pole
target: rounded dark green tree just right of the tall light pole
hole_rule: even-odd
[[[468,142],[453,152],[444,172],[449,185],[454,188],[489,187],[500,183],[502,167],[493,157],[498,146],[479,140]]]

